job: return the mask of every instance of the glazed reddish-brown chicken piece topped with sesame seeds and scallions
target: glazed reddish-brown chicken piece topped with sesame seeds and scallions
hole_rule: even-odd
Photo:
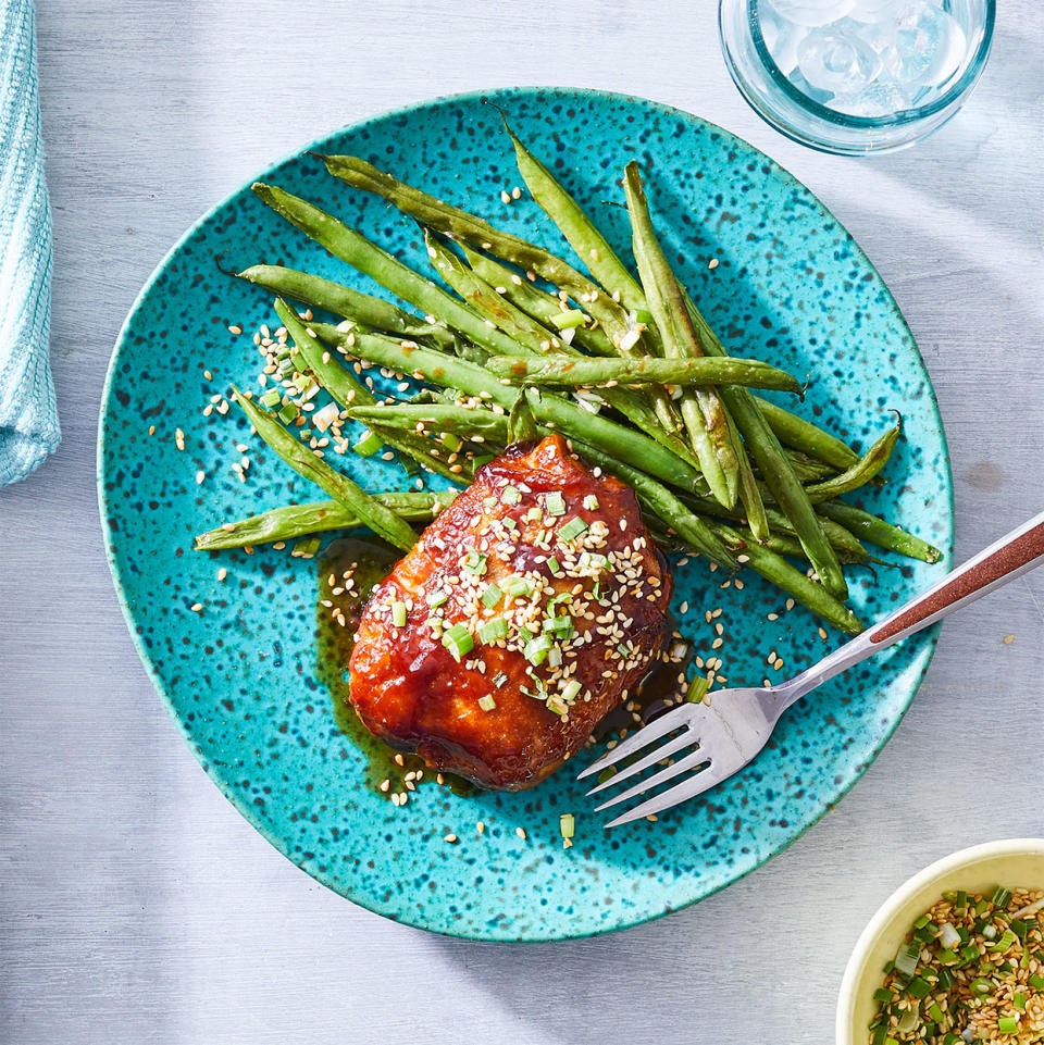
[[[649,670],[670,596],[630,487],[558,435],[511,447],[374,589],[351,702],[433,770],[532,786]]]

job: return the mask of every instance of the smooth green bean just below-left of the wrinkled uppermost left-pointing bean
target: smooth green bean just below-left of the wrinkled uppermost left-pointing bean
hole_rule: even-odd
[[[492,352],[505,354],[511,351],[510,338],[487,326],[485,320],[462,301],[370,242],[361,233],[278,186],[256,182],[253,191],[277,214],[332,254],[421,309],[425,315],[437,315],[455,331],[467,334],[475,344]]]

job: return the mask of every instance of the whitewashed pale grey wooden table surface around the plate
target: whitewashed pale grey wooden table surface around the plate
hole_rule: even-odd
[[[64,440],[0,493],[0,1041],[823,1043],[848,951],[895,885],[960,846],[1044,834],[1044,570],[946,624],[884,754],[786,853],[664,921],[561,945],[435,937],[312,882],[207,780],[132,648],[94,475],[138,287],[271,158],[464,89],[644,95],[780,160],[853,231],[920,343],[958,555],[1044,507],[1044,8],[999,4],[985,77],[939,135],[850,160],[748,111],[716,7],[40,0]]]

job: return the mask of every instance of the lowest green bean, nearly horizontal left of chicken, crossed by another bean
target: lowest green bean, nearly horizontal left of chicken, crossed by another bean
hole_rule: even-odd
[[[393,492],[374,494],[374,500],[409,522],[431,522],[447,505],[452,503],[458,490],[439,493]],[[225,523],[216,530],[196,537],[197,551],[223,551],[227,548],[252,548],[275,540],[293,540],[309,534],[332,530],[353,530],[365,523],[344,505],[335,500],[313,501],[308,505],[285,505],[270,508],[258,515]]]

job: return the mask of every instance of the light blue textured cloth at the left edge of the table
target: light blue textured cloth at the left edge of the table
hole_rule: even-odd
[[[51,211],[44,181],[33,0],[0,0],[0,486],[61,438],[48,359]]]

